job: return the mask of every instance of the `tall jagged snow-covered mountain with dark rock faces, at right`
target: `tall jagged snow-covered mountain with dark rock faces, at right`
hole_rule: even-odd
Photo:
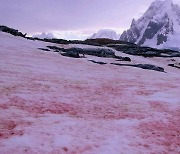
[[[133,19],[120,40],[157,48],[180,48],[180,7],[171,0],[153,2],[140,19]]]

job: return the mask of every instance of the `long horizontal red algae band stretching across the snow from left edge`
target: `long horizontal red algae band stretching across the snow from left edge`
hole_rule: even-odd
[[[122,103],[113,104],[79,104],[79,103],[63,103],[63,102],[34,102],[20,97],[11,98],[6,105],[1,105],[1,108],[16,107],[26,111],[31,115],[52,113],[52,114],[68,114],[74,118],[95,118],[95,119],[144,119],[147,115],[142,112],[142,109],[129,106]]]

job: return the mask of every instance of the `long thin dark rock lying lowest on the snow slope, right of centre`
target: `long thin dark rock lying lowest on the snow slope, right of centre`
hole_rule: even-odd
[[[138,68],[147,69],[147,70],[154,70],[154,71],[164,72],[164,68],[158,67],[158,66],[155,66],[155,65],[151,65],[151,64],[119,64],[119,63],[111,63],[111,64],[118,65],[118,66],[138,67]]]

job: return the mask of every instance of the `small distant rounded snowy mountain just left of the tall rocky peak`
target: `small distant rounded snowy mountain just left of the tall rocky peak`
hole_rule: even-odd
[[[96,38],[108,38],[112,40],[119,40],[120,35],[117,34],[113,30],[109,29],[101,29],[97,33],[94,33],[91,37],[91,39],[96,39]]]

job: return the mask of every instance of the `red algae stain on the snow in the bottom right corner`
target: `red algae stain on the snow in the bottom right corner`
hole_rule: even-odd
[[[150,149],[161,148],[164,153],[180,152],[180,112],[168,112],[167,122],[149,121],[139,125],[140,136]]]

